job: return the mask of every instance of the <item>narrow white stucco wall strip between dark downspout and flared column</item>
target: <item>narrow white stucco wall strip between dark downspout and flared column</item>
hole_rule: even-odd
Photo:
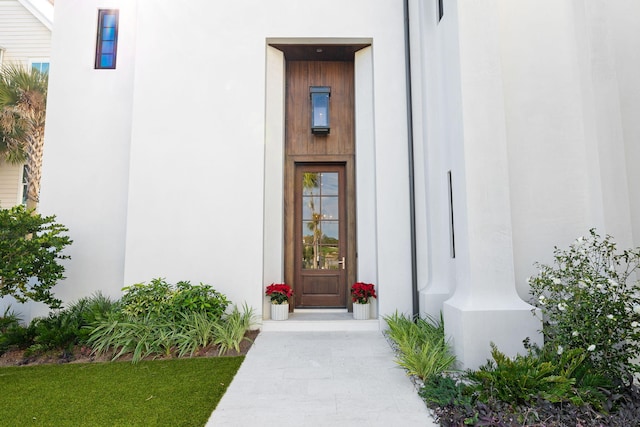
[[[421,314],[439,318],[455,288],[448,173],[455,188],[461,172],[452,161],[453,141],[461,138],[458,27],[448,7],[438,21],[437,2],[409,6],[419,302]]]

